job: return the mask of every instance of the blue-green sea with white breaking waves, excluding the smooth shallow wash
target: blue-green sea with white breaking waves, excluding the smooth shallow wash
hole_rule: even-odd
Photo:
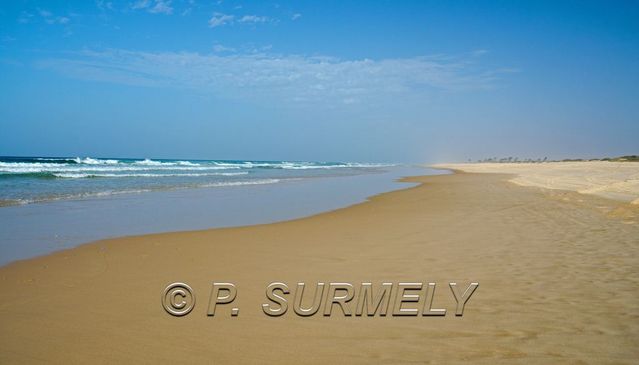
[[[0,157],[0,206],[379,172],[344,162]]]

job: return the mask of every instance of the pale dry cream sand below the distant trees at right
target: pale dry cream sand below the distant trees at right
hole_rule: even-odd
[[[637,162],[471,163],[435,167],[465,172],[515,174],[510,181],[523,186],[571,190],[639,204]]]

